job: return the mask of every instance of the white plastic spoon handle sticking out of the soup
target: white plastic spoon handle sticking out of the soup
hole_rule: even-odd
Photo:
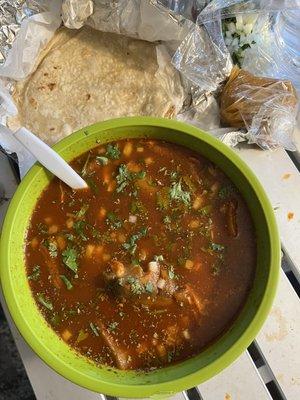
[[[46,143],[26,128],[11,133],[50,172],[72,189],[85,189],[87,183]]]

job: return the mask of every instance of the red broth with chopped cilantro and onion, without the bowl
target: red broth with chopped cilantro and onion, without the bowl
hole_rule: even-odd
[[[254,226],[226,175],[159,140],[98,146],[33,212],[27,274],[55,332],[99,364],[153,369],[199,353],[237,317],[256,268]]]

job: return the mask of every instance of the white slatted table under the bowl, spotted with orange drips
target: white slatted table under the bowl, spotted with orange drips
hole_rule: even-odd
[[[300,131],[297,135],[300,137]],[[300,399],[300,301],[287,277],[299,285],[300,172],[284,150],[265,152],[248,147],[237,152],[256,173],[275,209],[283,252],[278,292],[272,311],[251,347],[213,379],[188,393],[178,393],[171,400]],[[298,157],[299,154],[300,151]],[[1,154],[0,182],[10,198],[17,184]],[[0,221],[7,205],[8,202],[0,206]],[[288,213],[293,213],[292,219],[288,219]],[[18,333],[3,297],[1,302],[38,400],[106,400],[105,396],[74,385],[46,366]]]

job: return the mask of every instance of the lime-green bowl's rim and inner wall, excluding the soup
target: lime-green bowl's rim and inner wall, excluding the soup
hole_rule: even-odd
[[[267,196],[236,153],[195,127],[151,117],[101,122],[54,146],[67,161],[122,138],[164,139],[193,149],[217,164],[243,194],[256,228],[258,261],[253,289],[232,327],[198,356],[149,373],[97,367],[76,354],[46,324],[33,300],[25,274],[25,237],[32,211],[52,175],[38,163],[16,191],[3,226],[0,265],[4,296],[13,320],[32,349],[56,372],[90,390],[120,397],[168,397],[219,373],[253,341],[270,310],[278,281],[280,241]]]

